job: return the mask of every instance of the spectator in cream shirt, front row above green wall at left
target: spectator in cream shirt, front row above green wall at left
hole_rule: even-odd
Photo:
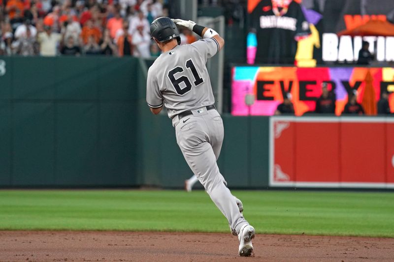
[[[37,36],[37,42],[40,44],[40,55],[44,57],[53,57],[57,54],[57,46],[62,40],[60,33],[53,32],[50,26],[44,26],[44,32]]]

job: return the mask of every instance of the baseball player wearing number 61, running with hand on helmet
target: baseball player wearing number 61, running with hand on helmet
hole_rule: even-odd
[[[193,30],[203,39],[180,46],[177,26]],[[255,229],[242,216],[216,164],[224,130],[213,105],[215,99],[205,64],[223,47],[224,39],[214,29],[167,17],[153,21],[150,31],[163,53],[149,68],[146,101],[155,115],[166,107],[189,167],[227,218],[231,232],[238,235],[239,255],[250,256]]]

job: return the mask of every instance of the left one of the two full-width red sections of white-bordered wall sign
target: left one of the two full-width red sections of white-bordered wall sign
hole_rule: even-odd
[[[296,123],[296,179],[298,182],[338,182],[338,122]]]

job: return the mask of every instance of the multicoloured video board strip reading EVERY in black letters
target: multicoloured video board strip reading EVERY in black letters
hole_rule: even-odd
[[[391,111],[394,112],[394,68],[367,67],[256,67],[236,66],[232,68],[231,114],[234,116],[272,116],[290,92],[296,116],[314,112],[316,99],[322,94],[322,85],[336,97],[335,114],[341,115],[348,95],[357,91],[362,103],[364,91],[370,89],[375,100],[382,90],[389,92]],[[372,90],[371,90],[372,89]],[[255,102],[249,106],[245,96],[253,94]]]

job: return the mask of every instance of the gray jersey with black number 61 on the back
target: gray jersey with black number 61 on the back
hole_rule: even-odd
[[[152,108],[165,106],[173,118],[187,110],[215,103],[206,61],[219,52],[214,38],[176,46],[163,53],[149,68],[146,102]]]

